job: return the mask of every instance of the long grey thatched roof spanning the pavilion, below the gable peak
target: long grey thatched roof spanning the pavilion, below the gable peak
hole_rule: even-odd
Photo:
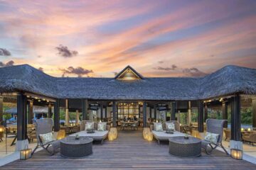
[[[0,68],[0,92],[26,91],[53,98],[198,100],[256,94],[256,69],[226,66],[206,77],[124,81],[114,78],[50,77],[28,64]]]

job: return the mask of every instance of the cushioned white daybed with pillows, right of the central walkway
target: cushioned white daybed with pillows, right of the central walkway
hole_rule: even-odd
[[[154,130],[154,125],[150,125],[150,130],[153,133],[154,138],[157,140],[157,142],[159,144],[160,144],[160,141],[163,141],[163,140],[168,141],[170,137],[184,136],[185,135],[185,134],[180,132],[180,125],[179,125],[178,121],[171,120],[171,121],[168,121],[166,123],[174,123],[174,126],[175,126],[174,134],[167,134],[166,133],[166,124],[165,123],[162,124],[163,131],[161,131],[161,132],[158,132],[158,131]]]

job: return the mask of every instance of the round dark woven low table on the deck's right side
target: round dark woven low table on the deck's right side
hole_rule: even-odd
[[[191,136],[188,140],[181,136],[170,137],[169,153],[176,157],[199,157],[201,156],[201,140]]]

